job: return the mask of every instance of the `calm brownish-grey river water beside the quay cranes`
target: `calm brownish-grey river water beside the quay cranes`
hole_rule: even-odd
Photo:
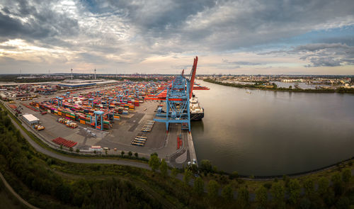
[[[239,89],[197,81],[205,117],[193,121],[198,162],[270,176],[318,169],[354,156],[354,95]],[[247,92],[249,91],[249,92]]]

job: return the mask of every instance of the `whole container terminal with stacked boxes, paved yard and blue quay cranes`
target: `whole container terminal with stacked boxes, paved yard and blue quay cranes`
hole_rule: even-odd
[[[189,75],[183,70],[170,81],[25,84],[26,92],[37,91],[35,99],[25,96],[4,104],[20,115],[26,128],[57,149],[108,154],[131,151],[140,157],[156,152],[171,166],[182,167],[197,163],[190,120],[204,116],[193,90],[208,90],[195,84],[197,63],[198,57]]]

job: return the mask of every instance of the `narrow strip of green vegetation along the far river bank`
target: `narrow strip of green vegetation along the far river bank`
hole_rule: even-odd
[[[305,92],[305,93],[350,93],[354,94],[354,89],[347,89],[345,87],[338,87],[337,89],[300,89],[300,88],[289,88],[278,87],[276,84],[273,85],[265,85],[265,82],[258,81],[256,84],[231,84],[231,83],[223,83],[220,81],[215,81],[213,79],[204,79],[203,81],[209,82],[212,84],[219,84],[222,86],[231,86],[236,88],[244,88],[244,89],[261,89],[268,91],[290,91],[290,92]]]

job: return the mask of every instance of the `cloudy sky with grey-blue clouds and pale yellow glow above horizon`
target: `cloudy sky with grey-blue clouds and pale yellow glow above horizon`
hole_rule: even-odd
[[[353,0],[0,0],[0,73],[354,74]]]

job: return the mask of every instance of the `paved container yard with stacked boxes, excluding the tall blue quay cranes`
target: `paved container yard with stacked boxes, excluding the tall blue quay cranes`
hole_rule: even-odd
[[[57,91],[36,100],[14,100],[6,106],[13,111],[22,108],[18,113],[39,118],[40,132],[28,128],[52,145],[83,153],[93,152],[91,147],[95,146],[108,147],[108,154],[131,151],[140,157],[157,152],[170,164],[183,166],[188,160],[188,132],[182,132],[180,124],[171,124],[166,132],[164,123],[153,120],[164,103],[144,100],[162,86],[166,86],[163,81],[119,81],[110,86]]]

